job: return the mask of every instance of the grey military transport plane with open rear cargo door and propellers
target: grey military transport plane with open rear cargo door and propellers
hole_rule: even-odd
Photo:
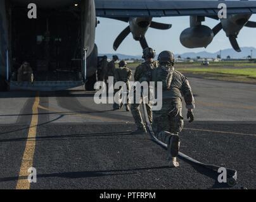
[[[29,3],[37,5],[37,19],[28,18]],[[220,3],[226,3],[227,19],[221,19],[214,28],[202,25],[205,18],[219,20]],[[171,27],[156,23],[153,18],[190,16],[190,27],[181,33],[182,45],[207,47],[224,30],[233,48],[240,51],[236,37],[243,27],[256,27],[255,22],[249,21],[254,13],[256,1],[0,0],[0,90],[8,90],[10,80],[15,81],[13,73],[24,60],[42,71],[41,76],[48,73],[45,81],[56,81],[50,85],[59,85],[56,72],[65,70],[77,74],[74,80],[80,83],[72,85],[87,81],[86,88],[92,90],[98,68],[94,41],[97,16],[129,23],[115,40],[115,50],[129,33],[144,48],[148,46],[144,37],[148,28]],[[51,72],[53,78],[49,76]]]

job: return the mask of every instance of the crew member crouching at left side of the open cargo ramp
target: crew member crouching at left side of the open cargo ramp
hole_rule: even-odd
[[[29,82],[32,83],[34,81],[33,70],[30,67],[29,62],[25,61],[22,63],[22,66],[18,69],[18,82]]]

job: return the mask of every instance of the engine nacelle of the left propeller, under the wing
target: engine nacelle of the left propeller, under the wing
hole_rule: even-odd
[[[130,18],[129,25],[134,40],[143,39],[150,27],[152,18]]]

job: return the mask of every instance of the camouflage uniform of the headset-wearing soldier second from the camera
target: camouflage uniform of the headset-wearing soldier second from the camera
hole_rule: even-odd
[[[146,61],[143,62],[143,64],[139,65],[136,68],[136,71],[134,73],[134,81],[139,81],[139,82],[143,82],[143,81],[147,81],[150,82],[152,80],[152,70],[157,68],[158,66],[158,62],[157,61]],[[135,92],[134,92],[135,94]],[[134,95],[134,98],[136,96]],[[138,129],[141,130],[145,130],[146,127],[144,126],[144,122],[141,116],[141,111],[140,111],[140,105],[143,102],[143,99],[141,98],[140,103],[136,104],[135,102],[136,100],[134,100],[134,104],[131,104],[131,112],[132,112],[132,116],[134,118],[135,124],[137,126]],[[146,104],[146,109],[148,112],[148,119],[150,120],[150,122],[152,122],[152,110],[151,110],[151,106],[150,104]]]

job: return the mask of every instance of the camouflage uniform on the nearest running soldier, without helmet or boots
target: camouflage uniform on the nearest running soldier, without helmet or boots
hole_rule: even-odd
[[[165,71],[165,69],[169,69],[169,72]],[[172,66],[160,66],[157,71],[158,73],[156,74],[158,76],[153,73],[153,81],[163,81],[163,105],[161,110],[153,112],[153,130],[155,133],[169,131],[170,133],[178,134],[184,125],[182,96],[186,102],[187,109],[195,108],[191,86],[187,78],[179,71],[174,70]],[[167,76],[165,73],[170,75],[167,82],[164,81]],[[169,84],[165,86],[164,83]]]

